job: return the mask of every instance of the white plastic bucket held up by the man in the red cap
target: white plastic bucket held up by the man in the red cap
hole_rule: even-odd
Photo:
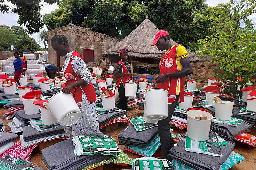
[[[168,116],[168,91],[151,89],[145,91],[146,116],[153,120],[165,119]]]

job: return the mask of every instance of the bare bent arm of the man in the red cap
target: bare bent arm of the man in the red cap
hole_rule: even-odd
[[[181,78],[181,77],[185,77],[185,76],[193,73],[189,57],[180,59],[180,62],[182,65],[181,70],[174,72],[174,73],[159,75],[159,77],[157,78],[157,83],[164,83],[165,80],[168,78]]]

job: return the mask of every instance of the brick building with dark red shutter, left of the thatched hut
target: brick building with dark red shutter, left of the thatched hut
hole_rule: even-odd
[[[67,37],[70,49],[78,52],[88,67],[98,65],[102,54],[121,41],[119,38],[90,31],[73,24],[49,30],[48,63],[60,67],[63,66],[65,58],[57,56],[51,46],[51,38],[58,34]]]

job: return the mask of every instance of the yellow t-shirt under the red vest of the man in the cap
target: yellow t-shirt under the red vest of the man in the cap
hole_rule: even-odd
[[[172,45],[172,47],[170,48],[170,50],[175,46]],[[166,52],[170,51],[170,50],[167,50]],[[179,45],[177,47],[177,51],[176,51],[176,60],[177,60],[177,65],[178,65],[178,70],[181,70],[182,69],[182,65],[181,65],[181,62],[180,60],[182,58],[185,58],[185,57],[188,57],[188,53],[187,53],[187,50],[184,46],[182,45]],[[179,89],[180,89],[180,82],[178,82],[178,85],[177,85],[177,93],[176,95],[179,95]]]

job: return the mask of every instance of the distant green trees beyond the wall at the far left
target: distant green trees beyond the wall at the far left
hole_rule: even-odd
[[[35,40],[28,36],[26,30],[20,26],[0,25],[0,48],[23,49],[26,51],[38,51],[39,45]]]

